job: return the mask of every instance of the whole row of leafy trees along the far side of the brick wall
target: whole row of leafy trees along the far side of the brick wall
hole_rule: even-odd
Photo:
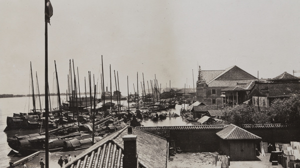
[[[270,107],[260,111],[254,106],[238,105],[228,108],[225,112],[228,123],[242,124],[299,124],[300,96],[276,99]]]

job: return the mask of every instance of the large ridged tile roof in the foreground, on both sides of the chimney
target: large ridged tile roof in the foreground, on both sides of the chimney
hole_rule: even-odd
[[[122,137],[128,134],[127,128],[128,126],[103,138],[65,165],[65,168],[94,168],[95,161],[98,163],[97,166],[122,168]],[[139,166],[141,168],[166,168],[167,141],[134,128],[132,128],[132,134],[137,135],[136,152]],[[91,167],[89,167],[90,164]]]

